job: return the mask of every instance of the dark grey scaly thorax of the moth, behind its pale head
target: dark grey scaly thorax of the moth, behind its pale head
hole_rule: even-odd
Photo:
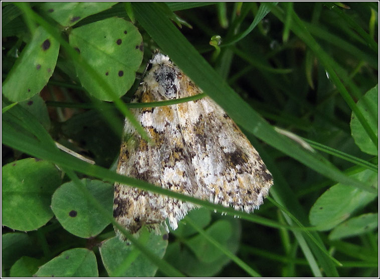
[[[158,83],[158,92],[168,99],[175,98],[179,90],[176,70],[168,65],[161,64],[153,75]]]

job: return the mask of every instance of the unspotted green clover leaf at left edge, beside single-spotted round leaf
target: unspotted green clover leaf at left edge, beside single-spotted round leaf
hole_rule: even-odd
[[[46,224],[53,212],[51,196],[61,177],[54,164],[33,158],[2,167],[3,225],[33,230]]]

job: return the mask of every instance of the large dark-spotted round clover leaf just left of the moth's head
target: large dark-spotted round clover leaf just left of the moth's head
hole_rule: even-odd
[[[132,86],[144,49],[141,35],[132,23],[116,17],[103,19],[73,29],[69,41],[80,56],[106,78],[118,96]],[[76,69],[83,87],[91,95],[112,100],[80,64],[76,63]]]

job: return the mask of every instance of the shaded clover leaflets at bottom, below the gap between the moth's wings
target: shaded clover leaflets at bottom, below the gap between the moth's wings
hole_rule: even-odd
[[[165,258],[189,276],[212,276],[229,262],[229,256],[203,235],[196,233],[194,226],[187,224],[189,219],[201,228],[206,227],[205,232],[232,253],[235,253],[239,246],[240,221],[225,217],[211,222],[210,211],[201,208],[188,213],[179,223],[179,231],[173,231],[179,241],[169,243]]]

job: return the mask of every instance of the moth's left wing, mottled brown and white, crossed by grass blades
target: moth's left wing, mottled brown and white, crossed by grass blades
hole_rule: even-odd
[[[142,84],[133,101],[151,102],[160,100],[156,92]],[[147,143],[138,132],[125,121],[125,138],[122,141],[117,172],[145,180],[156,186],[194,195],[193,166],[188,164],[187,151],[182,135],[177,129],[176,106],[161,106],[135,109],[135,117],[148,132],[153,143]],[[167,136],[170,135],[170,136]],[[168,218],[172,228],[194,205],[164,195],[115,183],[114,217],[130,232],[136,233],[146,224],[159,232],[159,224]],[[122,235],[118,230],[117,234]]]

